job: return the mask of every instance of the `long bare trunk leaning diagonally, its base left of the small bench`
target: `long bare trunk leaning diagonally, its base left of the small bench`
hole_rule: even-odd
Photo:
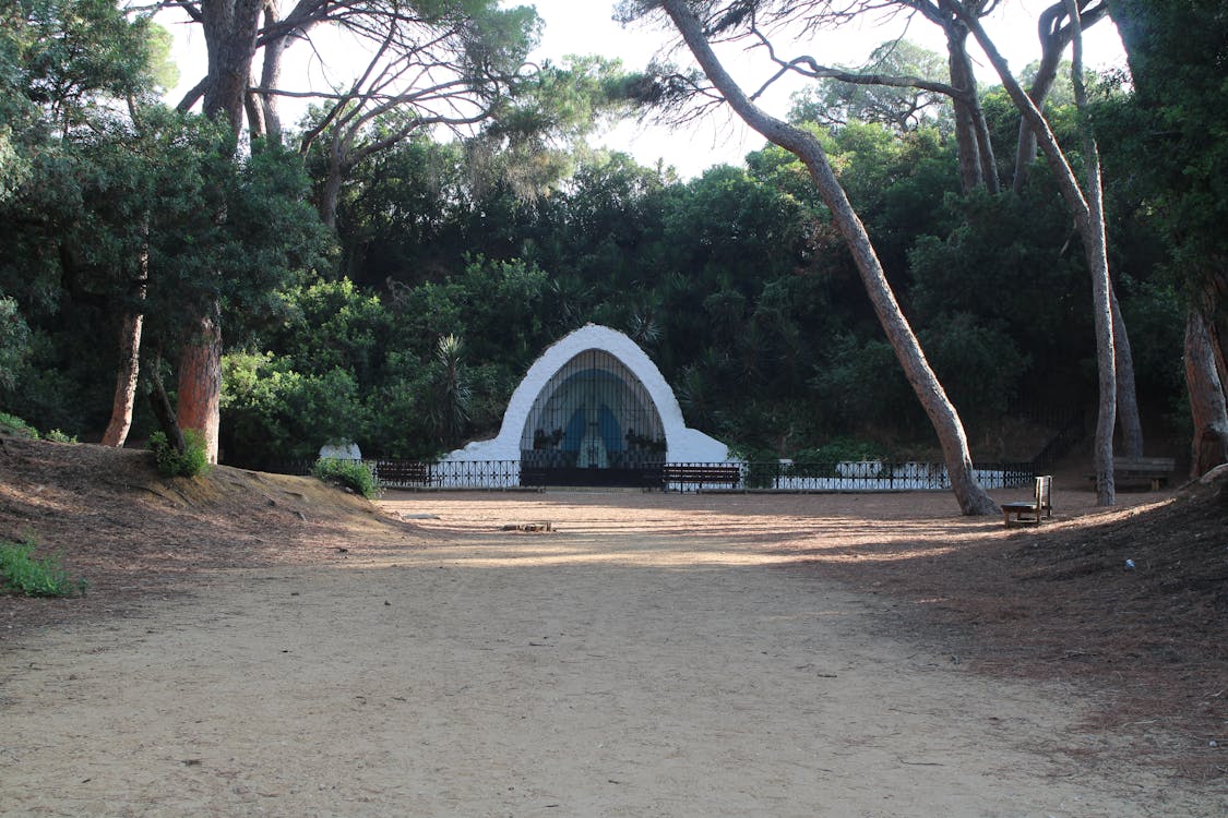
[[[985,493],[973,472],[973,457],[968,449],[963,422],[926,362],[921,345],[887,282],[866,227],[849,204],[849,197],[836,180],[822,145],[813,135],[768,115],[750,102],[721,65],[685,0],[662,0],[661,5],[673,20],[709,80],[733,110],[764,137],[802,159],[809,169],[819,194],[831,210],[836,227],[849,243],[866,292],[904,368],[904,374],[938,435],[952,489],[960,509],[969,515],[997,513],[997,504]]]

